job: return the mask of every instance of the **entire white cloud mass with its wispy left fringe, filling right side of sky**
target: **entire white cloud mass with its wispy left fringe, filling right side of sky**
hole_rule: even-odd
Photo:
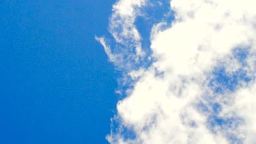
[[[137,17],[170,5],[142,38]],[[120,0],[104,37],[125,74],[110,143],[256,143],[256,2]],[[166,18],[166,19],[165,19]],[[142,45],[150,39],[150,47]],[[149,51],[150,50],[150,51]],[[147,63],[147,64],[146,64]],[[128,84],[127,84],[128,83]]]

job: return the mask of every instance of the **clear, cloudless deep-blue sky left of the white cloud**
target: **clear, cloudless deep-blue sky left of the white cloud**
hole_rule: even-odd
[[[107,143],[110,1],[0,2],[0,143]]]

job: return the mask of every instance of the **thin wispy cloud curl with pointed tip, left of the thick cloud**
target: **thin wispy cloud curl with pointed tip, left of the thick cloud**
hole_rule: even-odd
[[[146,5],[147,0],[123,0],[113,5],[113,13],[109,18],[109,32],[112,34],[116,46],[106,47],[106,39],[100,40],[107,55],[119,69],[133,69],[135,64],[140,64],[146,55],[142,50],[141,35],[135,26],[137,16],[141,16],[140,8]],[[103,43],[102,43],[103,42]],[[120,48],[121,47],[121,48]],[[115,56],[117,55],[117,56]],[[115,61],[113,61],[113,57]]]

